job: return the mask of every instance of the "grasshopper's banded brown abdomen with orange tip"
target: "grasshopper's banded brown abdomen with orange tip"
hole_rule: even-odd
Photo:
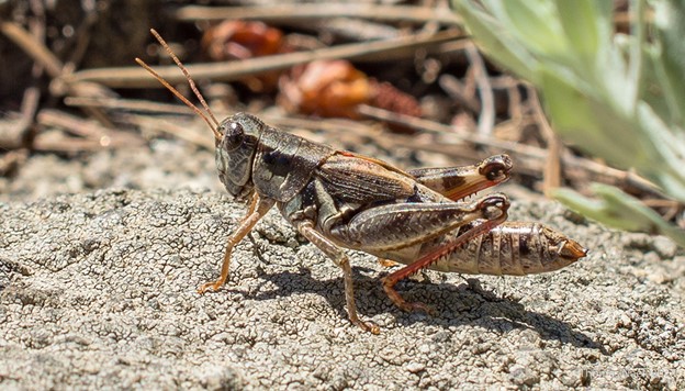
[[[457,235],[459,232],[445,235],[428,248],[424,246],[420,253],[448,246]],[[447,253],[429,268],[469,275],[524,276],[561,269],[586,254],[580,244],[542,224],[505,222]]]

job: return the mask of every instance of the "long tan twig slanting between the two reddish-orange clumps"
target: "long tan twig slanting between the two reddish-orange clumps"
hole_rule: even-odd
[[[316,59],[335,58],[383,58],[413,56],[415,48],[435,48],[453,40],[464,38],[459,31],[446,31],[431,36],[412,35],[395,40],[363,42],[339,45],[311,52],[296,52],[274,56],[257,57],[240,62],[188,65],[188,70],[195,79],[217,81],[236,80],[247,75],[269,70],[285,69],[299,64]],[[156,67],[155,70],[171,83],[186,81],[176,66]],[[159,83],[138,67],[99,68],[81,70],[70,75],[70,82],[94,81],[108,87],[117,88],[161,88]]]

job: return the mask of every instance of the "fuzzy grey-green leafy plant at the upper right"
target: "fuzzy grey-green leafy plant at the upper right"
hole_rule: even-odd
[[[635,169],[685,202],[684,2],[630,1],[630,34],[615,32],[613,1],[453,4],[490,58],[539,89],[564,141]],[[685,232],[639,200],[618,188],[593,190],[598,201],[569,189],[554,197],[603,223],[664,234],[685,246]]]

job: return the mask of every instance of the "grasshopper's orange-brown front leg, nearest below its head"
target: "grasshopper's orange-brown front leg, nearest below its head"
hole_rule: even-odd
[[[203,283],[200,288],[198,288],[198,293],[202,294],[211,289],[216,292],[228,279],[228,271],[231,266],[231,253],[233,253],[233,247],[237,245],[244,237],[247,235],[257,222],[263,217],[267,212],[273,206],[276,201],[259,197],[258,193],[252,194],[252,200],[250,202],[249,211],[240,221],[240,225],[238,228],[228,236],[228,243],[226,244],[226,252],[224,253],[224,262],[222,264],[221,276],[216,281]]]

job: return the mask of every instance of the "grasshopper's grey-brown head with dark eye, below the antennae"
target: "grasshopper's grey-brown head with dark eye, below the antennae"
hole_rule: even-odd
[[[216,127],[221,134],[214,155],[218,179],[236,198],[246,198],[252,191],[252,161],[265,126],[254,115],[237,113]]]

